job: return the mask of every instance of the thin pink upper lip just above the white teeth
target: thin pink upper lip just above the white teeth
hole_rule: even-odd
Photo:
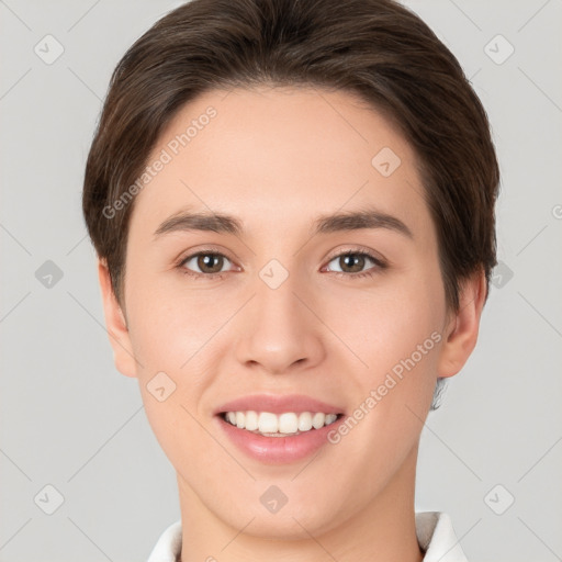
[[[271,412],[283,414],[284,412],[322,412],[324,414],[342,414],[344,408],[326,402],[322,402],[304,394],[290,394],[285,396],[274,394],[252,394],[229,401],[214,412],[215,415],[225,412]]]

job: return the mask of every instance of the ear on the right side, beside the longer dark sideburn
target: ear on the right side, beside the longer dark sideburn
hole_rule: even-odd
[[[472,353],[479,337],[480,318],[486,300],[486,277],[479,271],[463,281],[459,310],[451,315],[445,331],[438,364],[438,376],[457,374]]]

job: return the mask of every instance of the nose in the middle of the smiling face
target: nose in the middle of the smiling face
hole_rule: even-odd
[[[306,290],[289,278],[277,289],[261,279],[237,325],[237,360],[271,374],[306,369],[325,355],[322,323]]]

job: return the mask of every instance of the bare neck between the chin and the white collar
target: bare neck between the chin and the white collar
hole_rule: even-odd
[[[416,538],[414,487],[417,445],[384,488],[337,527],[307,538],[271,539],[251,533],[251,519],[234,528],[211,512],[178,474],[182,520],[181,562],[422,562]],[[369,493],[366,487],[366,493]],[[295,518],[295,520],[299,517]]]

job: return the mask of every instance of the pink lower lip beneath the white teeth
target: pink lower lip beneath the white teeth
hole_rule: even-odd
[[[345,416],[339,416],[329,426],[290,437],[266,437],[233,426],[220,415],[216,418],[223,431],[246,454],[261,462],[282,464],[305,459],[323,445],[328,445],[328,432],[337,429]]]

